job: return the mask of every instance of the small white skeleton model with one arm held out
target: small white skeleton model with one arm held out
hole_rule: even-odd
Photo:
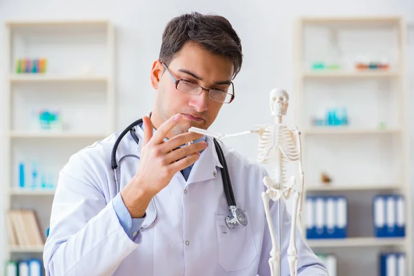
[[[217,139],[228,137],[236,137],[249,133],[257,133],[259,135],[259,153],[257,161],[261,164],[271,164],[270,177],[264,177],[263,182],[266,186],[266,192],[262,193],[264,210],[272,240],[272,250],[270,250],[269,266],[272,276],[281,275],[280,264],[280,200],[293,199],[293,215],[292,225],[290,226],[290,242],[288,246],[288,262],[290,275],[297,276],[297,246],[296,246],[296,224],[298,224],[299,233],[302,231],[302,201],[304,190],[304,172],[302,169],[302,148],[300,141],[300,132],[295,127],[289,129],[282,123],[283,116],[286,115],[288,109],[289,96],[282,89],[275,88],[270,92],[270,111],[275,117],[274,124],[266,126],[255,126],[254,130],[239,132],[233,135],[224,135],[221,133],[210,133],[200,128],[190,128],[188,131],[197,132],[203,135],[210,135]],[[292,176],[286,179],[286,164],[297,162],[299,170],[299,184],[296,183],[296,177]],[[274,165],[274,166],[273,166]],[[275,237],[275,229],[273,220],[270,215],[270,199],[278,201],[279,204],[279,237],[278,241]]]

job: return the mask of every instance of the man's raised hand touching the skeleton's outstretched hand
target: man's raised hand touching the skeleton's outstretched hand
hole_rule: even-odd
[[[121,197],[131,217],[144,217],[152,197],[165,188],[179,170],[184,170],[199,159],[200,151],[207,147],[205,141],[190,146],[182,146],[202,135],[186,132],[168,141],[164,138],[181,121],[182,115],[175,115],[159,126],[152,135],[153,126],[144,117],[144,141],[141,147],[139,168],[134,177],[121,191]]]

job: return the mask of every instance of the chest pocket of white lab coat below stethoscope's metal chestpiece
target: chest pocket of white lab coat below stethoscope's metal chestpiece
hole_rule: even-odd
[[[257,257],[257,248],[246,212],[248,224],[230,229],[226,225],[227,215],[216,215],[218,262],[225,271],[239,271],[248,268]]]

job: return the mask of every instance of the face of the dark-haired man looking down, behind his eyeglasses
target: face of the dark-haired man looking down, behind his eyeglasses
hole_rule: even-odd
[[[208,98],[208,91],[190,95],[175,88],[175,83],[161,62],[155,61],[151,71],[152,87],[157,90],[152,123],[157,128],[177,113],[183,119],[172,130],[174,135],[188,132],[191,126],[207,129],[215,121],[223,103]],[[234,66],[230,59],[213,55],[195,43],[186,43],[172,59],[168,70],[177,80],[196,83],[207,89],[232,92],[230,81]],[[164,74],[163,74],[164,72]]]

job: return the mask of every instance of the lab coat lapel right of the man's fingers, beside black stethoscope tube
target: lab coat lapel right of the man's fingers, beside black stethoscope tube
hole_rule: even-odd
[[[199,159],[193,165],[187,184],[214,179],[217,177],[217,170],[223,168],[219,161],[213,138],[206,137],[206,142],[207,148],[201,152]]]

